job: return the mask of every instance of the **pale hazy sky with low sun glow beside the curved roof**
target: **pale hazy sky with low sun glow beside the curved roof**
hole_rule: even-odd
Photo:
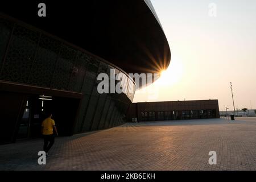
[[[218,99],[219,109],[256,109],[256,1],[151,0],[171,63],[133,102]],[[216,16],[209,15],[216,5]]]

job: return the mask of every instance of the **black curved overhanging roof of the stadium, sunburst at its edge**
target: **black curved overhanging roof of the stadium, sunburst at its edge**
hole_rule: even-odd
[[[46,3],[46,17],[37,15],[40,2]],[[170,64],[170,47],[149,0],[9,0],[0,2],[0,11],[92,52],[127,73],[159,72]]]

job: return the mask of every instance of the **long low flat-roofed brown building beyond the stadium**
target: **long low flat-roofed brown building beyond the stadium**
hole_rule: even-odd
[[[129,121],[220,118],[220,111],[218,100],[138,102],[130,105],[128,118]]]

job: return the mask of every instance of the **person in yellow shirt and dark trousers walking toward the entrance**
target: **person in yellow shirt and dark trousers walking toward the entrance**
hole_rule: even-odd
[[[54,134],[53,134],[53,129],[54,129],[56,135],[58,135],[57,129],[55,126],[55,122],[51,117],[52,117],[52,114],[49,113],[47,115],[47,118],[44,119],[44,121],[42,122],[42,134],[43,134],[43,138],[44,138],[44,151],[46,152],[46,156],[49,156],[48,151],[50,150],[50,148],[52,147],[52,145],[54,143],[55,138],[54,138]]]

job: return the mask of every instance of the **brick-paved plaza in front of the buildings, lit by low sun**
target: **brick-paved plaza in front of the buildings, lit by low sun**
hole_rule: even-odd
[[[256,170],[256,118],[126,123],[56,137],[39,166],[42,146],[42,139],[1,145],[0,170]]]

